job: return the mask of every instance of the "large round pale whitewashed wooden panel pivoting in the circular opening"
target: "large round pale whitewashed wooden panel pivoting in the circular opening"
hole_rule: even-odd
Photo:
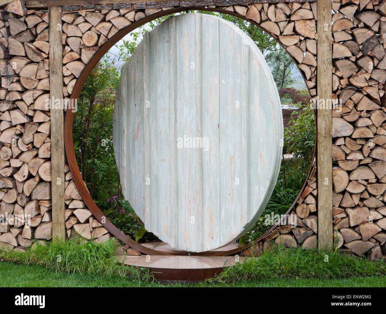
[[[122,191],[146,230],[174,248],[216,249],[254,225],[282,139],[271,72],[230,22],[173,16],[122,67],[113,126]]]

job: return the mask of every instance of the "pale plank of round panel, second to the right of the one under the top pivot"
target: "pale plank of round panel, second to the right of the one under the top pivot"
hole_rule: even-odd
[[[229,225],[229,229],[221,229],[221,241],[229,242],[239,233],[238,226],[242,217],[240,195],[240,158],[242,155],[240,128],[240,82],[242,68],[242,38],[229,34],[229,26],[219,25],[220,48],[220,226]],[[221,40],[227,38],[227,40]],[[237,49],[235,49],[237,47]],[[241,69],[241,71],[239,70]],[[236,107],[238,104],[238,107]],[[238,123],[234,123],[238,121]],[[236,182],[238,181],[238,182]],[[238,183],[238,184],[236,184]],[[246,222],[244,222],[243,226]]]

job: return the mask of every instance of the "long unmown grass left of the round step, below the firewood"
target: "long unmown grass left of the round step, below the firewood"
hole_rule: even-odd
[[[131,278],[150,279],[149,271],[117,262],[115,238],[105,243],[83,242],[80,238],[53,242],[35,242],[26,252],[0,249],[0,259],[22,264],[45,266],[56,272],[78,272],[80,274],[105,274]]]

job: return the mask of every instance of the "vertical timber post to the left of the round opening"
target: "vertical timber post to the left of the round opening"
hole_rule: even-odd
[[[61,7],[49,7],[49,86],[51,100],[51,194],[52,238],[65,240],[64,227],[64,123],[63,108],[54,101],[63,99]],[[62,101],[60,102],[63,103]]]

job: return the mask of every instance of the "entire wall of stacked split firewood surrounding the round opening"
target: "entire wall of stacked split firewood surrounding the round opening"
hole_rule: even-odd
[[[286,48],[311,96],[316,97],[316,3],[248,5],[225,0],[63,7],[64,97],[69,98],[85,65],[113,35],[149,15],[191,6],[231,12],[260,25]],[[367,254],[369,259],[386,254],[385,7],[386,2],[371,0],[333,3],[333,98],[340,99],[342,106],[333,111],[332,234],[337,247]],[[47,12],[27,10],[22,0],[15,0],[0,12],[0,214],[32,217],[30,228],[24,222],[0,225],[0,245],[23,250],[33,238],[52,236],[50,112],[46,106],[48,16]],[[108,230],[86,208],[68,165],[64,173],[68,237],[81,235],[85,240],[99,242],[110,238]],[[305,188],[288,210],[289,215],[296,215],[296,227],[276,226],[254,245],[254,254],[280,243],[315,248],[316,196],[314,159]],[[245,254],[252,254],[251,249]]]

